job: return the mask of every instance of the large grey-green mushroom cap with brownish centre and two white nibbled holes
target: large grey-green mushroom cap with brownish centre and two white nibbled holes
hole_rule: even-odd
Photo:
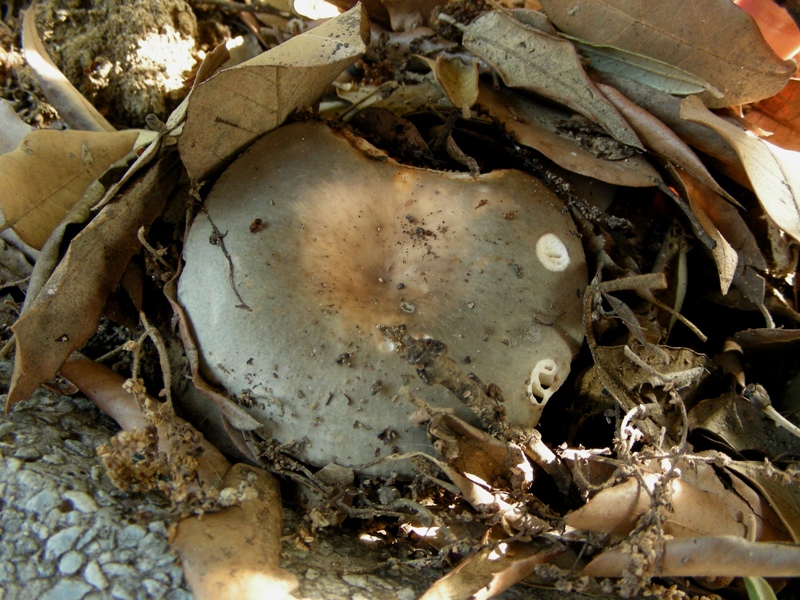
[[[583,339],[583,250],[539,181],[403,166],[320,123],[278,129],[237,159],[184,257],[178,297],[206,378],[318,466],[433,452],[402,386],[475,422],[417,377],[398,352],[407,336],[446,344],[523,427]],[[366,470],[392,471],[410,466]]]

